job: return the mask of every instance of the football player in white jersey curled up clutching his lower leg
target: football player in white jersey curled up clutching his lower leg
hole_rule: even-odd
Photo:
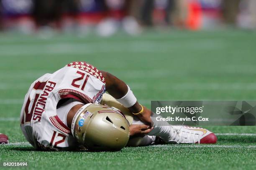
[[[104,94],[106,90],[110,95]],[[20,126],[28,142],[44,150],[120,150],[159,139],[164,143],[217,141],[202,128],[157,122],[125,82],[86,62],[72,62],[33,82],[20,112]],[[135,137],[141,134],[146,135]]]

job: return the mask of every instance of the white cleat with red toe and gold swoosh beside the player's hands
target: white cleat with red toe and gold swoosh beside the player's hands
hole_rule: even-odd
[[[189,126],[171,126],[172,138],[168,143],[214,144],[217,137],[209,130]]]

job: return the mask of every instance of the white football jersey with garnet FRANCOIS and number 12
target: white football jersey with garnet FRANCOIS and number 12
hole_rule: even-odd
[[[99,103],[105,92],[102,73],[86,62],[72,62],[38,78],[29,88],[20,112],[20,127],[31,145],[43,149],[77,148],[79,144],[57,116],[59,100]]]

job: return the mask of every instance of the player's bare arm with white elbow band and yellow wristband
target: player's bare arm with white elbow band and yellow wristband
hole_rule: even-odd
[[[139,113],[136,116],[141,121],[145,122],[146,125],[151,126],[153,124],[151,121],[151,110],[139,104],[128,85],[126,85],[125,82],[118,79],[109,72],[100,72],[102,72],[105,78],[106,90],[108,91],[108,93],[115,97],[118,102],[127,107],[135,115],[136,113]]]

